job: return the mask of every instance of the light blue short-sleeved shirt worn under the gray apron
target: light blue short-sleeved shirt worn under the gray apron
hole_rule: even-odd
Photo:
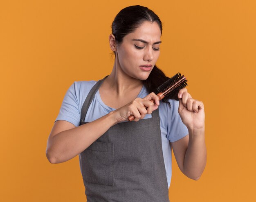
[[[65,120],[78,127],[83,102],[85,101],[89,91],[96,83],[97,81],[74,82],[67,90],[60,112],[55,121]],[[146,87],[143,86],[137,97],[144,98],[146,95],[148,95],[148,91]],[[166,102],[162,102],[162,100],[160,101],[159,116],[166,178],[168,187],[170,187],[172,175],[172,155],[170,142],[180,140],[188,135],[189,131],[183,124],[178,113],[179,101],[168,100],[168,102],[170,105]],[[99,91],[97,91],[85,116],[85,122],[92,122],[114,110],[114,108],[111,108],[103,103]],[[147,114],[144,118],[151,118],[151,114]]]

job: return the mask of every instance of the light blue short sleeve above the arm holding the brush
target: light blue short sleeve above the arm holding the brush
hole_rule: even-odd
[[[80,109],[77,82],[74,82],[67,90],[55,122],[58,120],[65,120],[74,124],[76,127],[79,126]]]

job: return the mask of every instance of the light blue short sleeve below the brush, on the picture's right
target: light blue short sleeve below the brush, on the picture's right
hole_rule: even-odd
[[[189,134],[189,130],[182,122],[178,113],[179,101],[169,100],[170,106],[167,107],[167,139],[175,142]]]

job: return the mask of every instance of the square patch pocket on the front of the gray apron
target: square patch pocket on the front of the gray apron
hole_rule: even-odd
[[[114,153],[112,142],[93,142],[81,154],[83,180],[113,186]]]

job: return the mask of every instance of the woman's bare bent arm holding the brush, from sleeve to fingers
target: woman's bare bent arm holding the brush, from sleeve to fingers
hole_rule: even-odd
[[[151,99],[156,104],[151,102]],[[159,98],[155,93],[150,93],[145,98],[136,98],[125,106],[79,127],[64,120],[58,120],[54,123],[47,140],[47,159],[51,163],[70,160],[88,148],[113,125],[127,120],[130,115],[134,115],[135,121],[138,121],[147,113],[152,113],[158,105]]]

